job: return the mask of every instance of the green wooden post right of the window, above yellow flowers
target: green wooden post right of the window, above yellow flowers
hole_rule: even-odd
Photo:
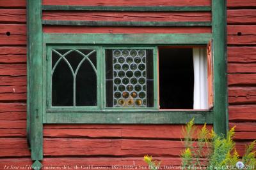
[[[212,0],[214,131],[217,134],[226,134],[228,129],[226,3],[226,0]]]

